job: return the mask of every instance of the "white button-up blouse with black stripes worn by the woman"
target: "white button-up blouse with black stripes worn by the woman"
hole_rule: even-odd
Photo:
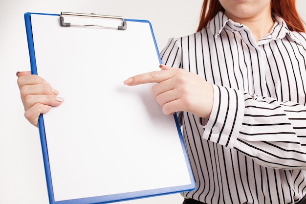
[[[210,118],[179,113],[197,188],[206,204],[294,204],[306,195],[306,34],[275,16],[271,33],[219,12],[195,34],[170,39],[165,65],[213,84]]]

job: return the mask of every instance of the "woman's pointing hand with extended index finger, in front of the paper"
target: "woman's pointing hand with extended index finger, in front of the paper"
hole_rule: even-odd
[[[199,75],[183,69],[163,65],[159,67],[161,71],[133,76],[125,80],[124,84],[135,86],[157,83],[152,87],[152,93],[164,114],[186,111],[209,118],[213,107],[213,86]]]

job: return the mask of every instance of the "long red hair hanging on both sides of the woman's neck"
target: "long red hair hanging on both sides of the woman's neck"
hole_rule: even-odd
[[[224,11],[219,0],[204,0],[197,31],[205,28],[219,11]],[[295,0],[271,0],[271,12],[284,19],[289,30],[305,32],[304,22],[295,7]]]

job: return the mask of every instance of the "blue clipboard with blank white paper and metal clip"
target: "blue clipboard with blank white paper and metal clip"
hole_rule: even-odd
[[[143,88],[146,91],[136,88],[129,92],[128,89],[131,87],[124,87],[123,84],[121,86],[113,82],[117,80],[117,75],[122,75],[123,72],[126,72],[123,77],[129,77],[135,73],[151,71],[152,68],[142,69],[146,67],[144,63],[141,63],[143,58],[144,62],[151,59],[154,63],[156,62],[153,67],[161,64],[151,23],[146,20],[128,20],[120,17],[118,20],[118,17],[114,16],[66,13],[69,17],[72,16],[72,19],[74,15],[78,15],[77,21],[80,19],[96,21],[89,24],[77,24],[71,28],[72,23],[67,23],[69,18],[62,14],[24,14],[31,72],[47,80],[50,79],[52,86],[55,84],[60,91],[63,90],[62,94],[65,98],[65,102],[60,107],[40,115],[39,118],[49,203],[104,204],[195,189],[194,177],[176,114],[165,116],[159,113],[161,109],[151,100],[148,93],[151,90],[148,91],[148,87]],[[101,27],[97,24],[101,19],[104,19],[103,23],[109,19],[114,22]],[[114,27],[113,23],[118,22],[119,26]],[[97,32],[101,34],[95,36]],[[73,33],[77,33],[78,36]],[[114,40],[107,40],[104,37],[116,38],[117,33],[119,37]],[[132,42],[131,36],[137,43]],[[142,40],[143,36],[146,38]],[[97,48],[99,39],[104,41]],[[66,49],[67,46],[69,49]],[[102,52],[105,58],[95,62],[95,58],[100,56],[97,52]],[[113,56],[114,53],[121,54]],[[91,57],[95,58],[91,59]],[[146,57],[149,57],[149,60],[145,59]],[[116,70],[103,69],[109,66],[105,64],[108,60],[111,67],[115,67]],[[90,63],[99,64],[101,67],[92,68],[95,71],[93,73],[90,68],[95,67],[95,64]],[[139,69],[135,68],[137,67],[135,63],[141,64],[138,65]],[[70,65],[75,69],[79,66],[82,73],[80,74],[79,69],[77,71],[71,69]],[[82,67],[84,65],[90,68]],[[122,65],[128,68],[121,69]],[[66,69],[69,70],[66,71]],[[73,76],[71,72],[74,73]],[[108,76],[104,76],[105,72]],[[101,75],[103,78],[101,81],[107,81],[108,85],[114,83],[115,88],[112,89],[110,85],[105,86],[102,82],[97,83],[96,81],[101,78],[97,78],[97,75]],[[80,82],[80,78],[82,80],[86,78],[86,83]],[[122,82],[124,79],[118,79],[118,81]],[[79,86],[82,83],[84,84]],[[86,84],[89,84],[89,88]],[[112,100],[111,102],[99,96],[100,94],[94,94],[97,90],[93,87],[97,85],[105,87],[97,89],[102,92],[101,95],[115,95],[114,98],[108,97]],[[88,100],[74,98],[80,92],[75,90],[82,89],[84,89],[83,94],[96,98],[90,103]],[[136,101],[139,100],[137,93],[141,96],[140,102]],[[99,103],[95,103],[96,101]],[[76,102],[80,102],[77,113],[69,112]],[[131,105],[137,103],[139,105]],[[83,104],[85,104],[85,110],[81,108]],[[99,104],[102,105],[97,108],[96,113],[90,114],[93,112],[88,111],[91,110],[91,106],[99,106]],[[100,109],[104,104],[110,105],[107,109]],[[115,112],[116,109],[109,111],[113,109],[112,106],[118,107],[116,109],[119,113]],[[122,106],[126,107],[120,109]],[[131,115],[130,109],[135,116]],[[126,114],[130,116],[127,117]],[[139,117],[141,118],[138,120]],[[116,118],[121,121],[121,124],[112,126]],[[149,122],[146,123],[146,121]],[[128,126],[124,126],[126,123]],[[151,123],[154,127],[150,129]],[[121,127],[123,129],[120,129]],[[108,133],[110,130],[113,134]],[[97,148],[100,146],[103,147],[101,150]],[[118,170],[119,168],[121,170]]]

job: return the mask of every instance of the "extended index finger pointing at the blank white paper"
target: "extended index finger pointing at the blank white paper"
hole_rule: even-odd
[[[151,71],[143,74],[138,74],[124,80],[124,84],[134,86],[139,84],[159,83],[170,79],[174,76],[172,70]]]

